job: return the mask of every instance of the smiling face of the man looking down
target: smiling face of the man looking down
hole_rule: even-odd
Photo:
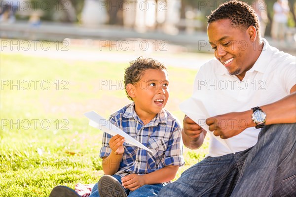
[[[252,28],[243,30],[235,28],[228,19],[210,23],[207,29],[209,42],[214,54],[230,74],[236,75],[240,80],[245,76],[256,62],[256,31]],[[254,37],[255,36],[255,37]],[[255,49],[254,49],[255,48]]]

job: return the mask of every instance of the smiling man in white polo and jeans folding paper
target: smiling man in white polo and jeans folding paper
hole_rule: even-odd
[[[209,130],[235,154],[211,136],[209,156],[158,196],[296,196],[296,57],[261,38],[245,2],[217,8],[207,33],[215,59],[197,73],[192,98],[203,102]],[[186,147],[198,149],[206,133],[185,116]]]

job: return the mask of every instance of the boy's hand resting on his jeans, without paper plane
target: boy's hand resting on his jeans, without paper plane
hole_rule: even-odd
[[[129,189],[130,191],[134,191],[143,185],[145,185],[145,176],[138,174],[129,174],[125,177],[121,178],[122,186],[125,189]]]

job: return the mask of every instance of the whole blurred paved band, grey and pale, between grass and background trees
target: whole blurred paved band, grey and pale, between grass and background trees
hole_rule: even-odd
[[[16,21],[0,24],[0,38],[1,52],[69,61],[128,63],[143,56],[154,58],[166,66],[198,69],[214,57],[205,32],[169,35],[161,32],[139,33],[114,26],[84,28],[52,22],[33,26]],[[284,44],[274,42],[270,37],[265,38],[272,46],[296,55],[293,37]]]

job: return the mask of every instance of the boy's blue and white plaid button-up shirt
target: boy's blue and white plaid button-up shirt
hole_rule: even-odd
[[[182,128],[176,118],[162,109],[147,125],[144,125],[135,112],[134,105],[132,102],[111,114],[109,121],[153,153],[124,142],[124,154],[115,174],[122,177],[131,173],[147,174],[167,165],[184,165]],[[104,132],[101,158],[111,154],[109,146],[111,137]]]

